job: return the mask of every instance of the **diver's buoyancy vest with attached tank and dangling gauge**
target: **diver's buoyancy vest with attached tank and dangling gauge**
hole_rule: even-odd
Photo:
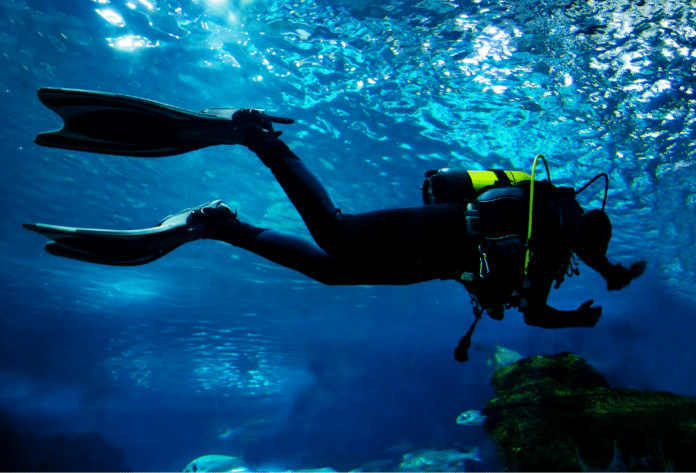
[[[469,356],[471,336],[485,311],[502,320],[504,307],[514,304],[522,282],[530,203],[525,190],[516,184],[531,181],[522,171],[472,171],[439,169],[427,171],[423,183],[426,205],[456,203],[465,208],[467,245],[477,257],[462,263],[456,279],[466,287],[476,319],[454,350],[464,362]]]

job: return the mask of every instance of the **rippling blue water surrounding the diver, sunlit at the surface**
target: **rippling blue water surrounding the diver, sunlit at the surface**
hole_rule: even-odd
[[[152,264],[61,259],[22,222],[144,228],[223,199],[309,236],[243,147],[162,159],[40,148],[61,120],[39,87],[293,117],[290,147],[346,212],[421,204],[424,171],[611,179],[609,258],[648,262],[609,293],[586,266],[551,305],[594,329],[510,311],[474,341],[570,350],[612,387],[696,395],[696,8],[688,0],[0,0],[0,410],[38,435],[99,432],[135,470],[207,454],[274,468],[358,468],[388,449],[481,448],[457,415],[494,396],[453,281],[326,287],[223,243]],[[601,205],[600,187],[580,196]],[[219,434],[229,431],[227,438]]]

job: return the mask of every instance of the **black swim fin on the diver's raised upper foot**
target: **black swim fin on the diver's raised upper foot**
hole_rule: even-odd
[[[87,90],[42,88],[38,97],[65,123],[60,130],[36,135],[36,144],[120,156],[155,158],[240,144],[251,126],[273,131],[271,122],[294,122],[258,111],[237,118],[234,108],[192,112],[138,97]]]

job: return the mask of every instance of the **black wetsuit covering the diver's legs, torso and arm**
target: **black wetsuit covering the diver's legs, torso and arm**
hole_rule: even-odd
[[[441,203],[343,213],[316,176],[280,139],[271,133],[250,133],[244,144],[271,169],[314,242],[246,223],[234,231],[218,230],[207,238],[252,251],[329,285],[402,285],[457,279],[463,266],[471,265],[472,260],[478,264],[479,242],[467,234],[463,205]],[[543,182],[535,188],[530,284],[529,290],[521,293],[526,304],[520,310],[531,325],[593,326],[600,308],[559,311],[546,305],[551,284],[568,261],[576,222],[583,211],[572,189],[569,192]],[[525,192],[528,196],[528,183]],[[586,262],[595,269],[609,264],[603,254],[589,259]],[[513,285],[521,286],[523,259],[516,255],[513,260],[514,267],[505,269],[507,277]]]

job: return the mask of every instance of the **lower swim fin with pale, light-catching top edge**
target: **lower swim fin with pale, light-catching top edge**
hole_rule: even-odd
[[[216,200],[182,210],[157,226],[142,230],[101,230],[43,223],[24,223],[27,230],[51,241],[45,249],[52,255],[112,266],[137,266],[154,261],[184,243],[203,238],[203,228],[214,220],[236,215]]]

